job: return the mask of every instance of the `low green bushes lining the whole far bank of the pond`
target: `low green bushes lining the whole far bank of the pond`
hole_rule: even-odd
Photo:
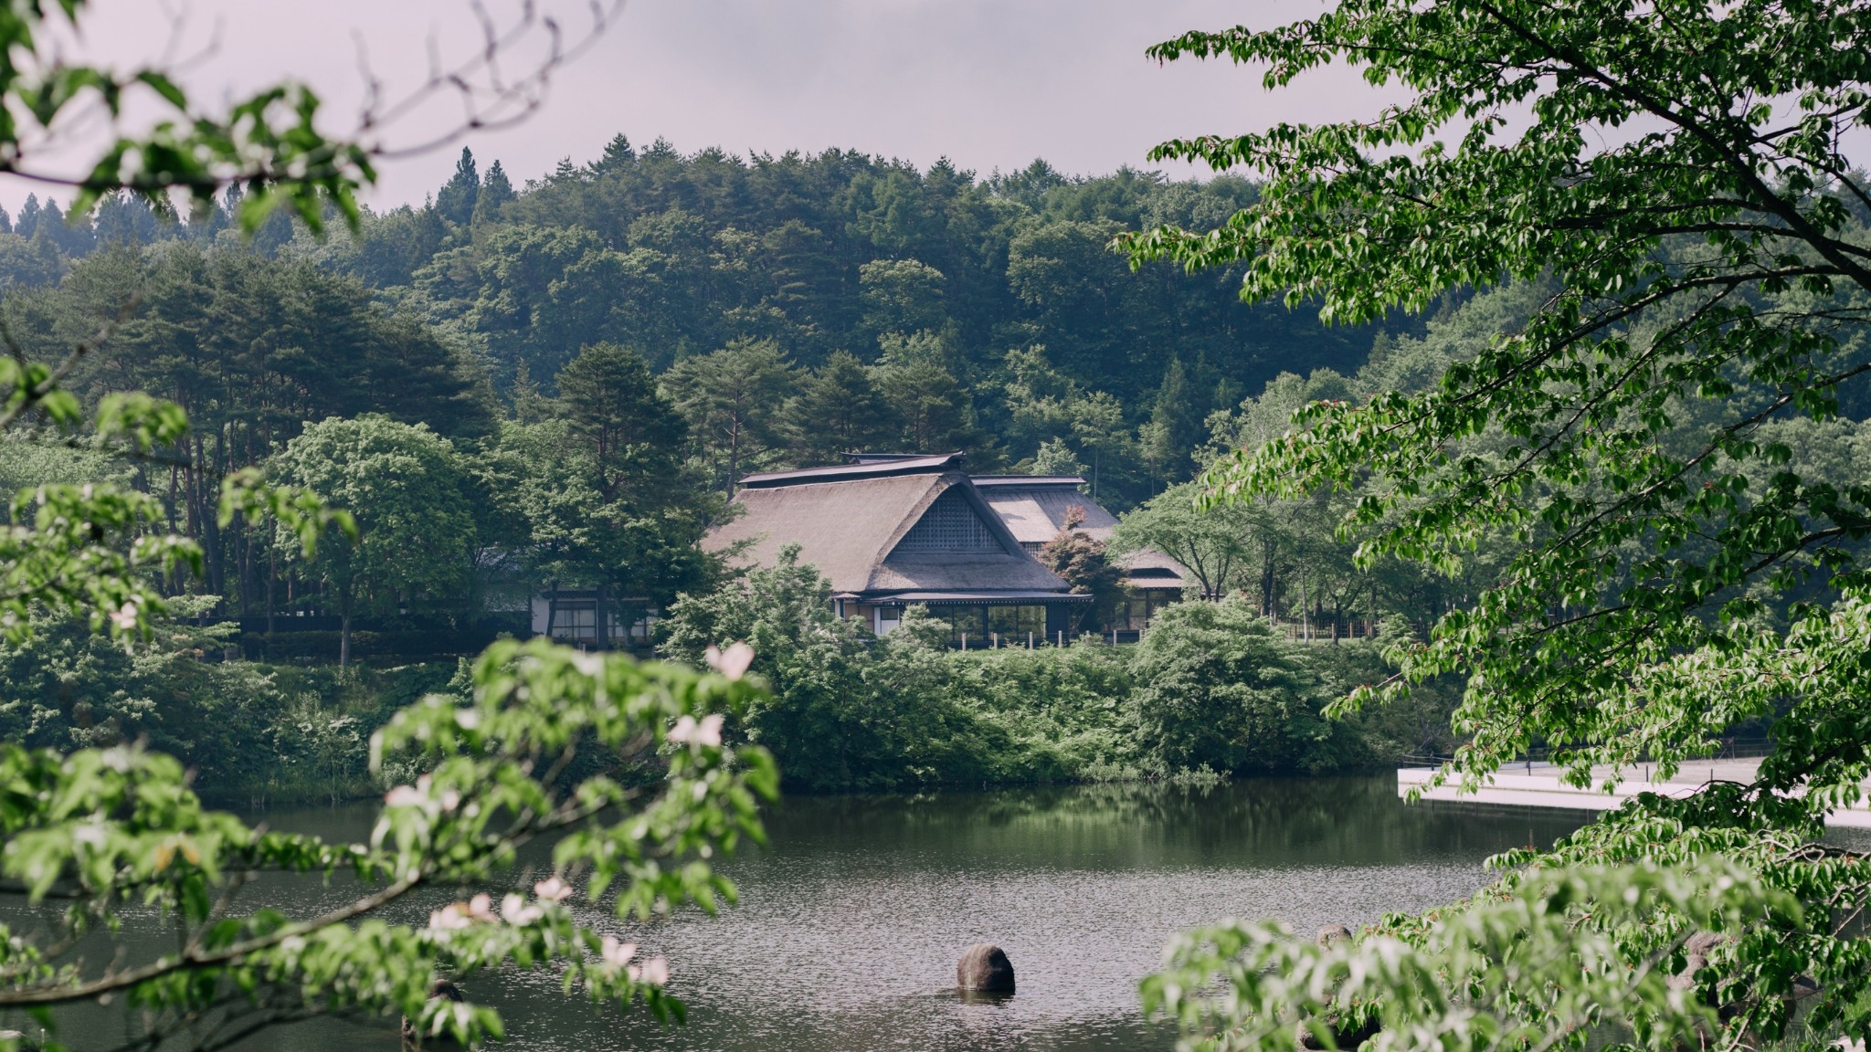
[[[146,739],[210,797],[341,799],[376,792],[370,732],[457,674],[455,661],[350,672],[238,661],[234,640],[234,625],[167,623],[125,650],[43,618],[24,642],[0,646],[0,738],[58,749]],[[1134,648],[1087,636],[960,653],[949,627],[915,608],[881,640],[840,621],[825,580],[788,554],[674,606],[668,657],[700,665],[717,640],[754,646],[773,696],[737,732],[773,749],[805,792],[1323,773],[1435,749],[1448,726],[1435,691],[1414,709],[1321,717],[1385,674],[1377,646],[1297,644],[1240,601],[1171,606]]]

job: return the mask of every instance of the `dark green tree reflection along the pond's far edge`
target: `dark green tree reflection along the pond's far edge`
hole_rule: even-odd
[[[900,844],[919,852],[1132,852],[1190,863],[1383,865],[1474,857],[1577,826],[1568,812],[1409,805],[1392,775],[1250,779],[1220,786],[1121,782],[900,797],[795,797],[776,839],[803,850]]]

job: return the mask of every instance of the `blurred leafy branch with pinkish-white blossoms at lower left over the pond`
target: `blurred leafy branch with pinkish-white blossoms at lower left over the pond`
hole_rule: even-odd
[[[157,752],[4,745],[0,891],[67,904],[45,930],[0,927],[0,1011],[24,1009],[51,1028],[52,1005],[122,996],[144,1013],[150,1037],[138,1045],[150,1046],[183,1035],[225,1048],[275,1022],[397,1013],[425,1035],[475,1041],[500,1037],[500,1016],[430,1000],[432,981],[515,964],[558,968],[565,990],[593,1003],[642,1001],[657,1018],[681,1018],[662,988],[668,964],[634,960],[634,945],[578,925],[567,900],[574,882],[587,900],[640,919],[733,900],[705,859],[761,837],[756,809],[776,794],[776,771],[765,751],[722,745],[720,713],[758,687],[739,678],[745,659],[720,665],[724,674],[696,674],[496,644],[475,665],[470,704],[430,696],[374,736],[374,766],[400,754],[428,773],[385,796],[363,844],[202,811],[180,764]],[[666,766],[651,788],[612,773],[571,777],[647,756]],[[552,844],[554,872],[528,891],[513,884],[515,867],[535,840]],[[344,872],[359,897],[316,917],[241,913],[241,889],[262,872]],[[378,915],[436,884],[481,891],[419,928]],[[123,910],[148,908],[172,921],[174,953],[103,970],[73,955],[86,934],[114,934]]]

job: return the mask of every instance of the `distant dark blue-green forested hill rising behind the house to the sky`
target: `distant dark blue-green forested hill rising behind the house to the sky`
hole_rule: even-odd
[[[1044,446],[1053,460],[1098,468],[1100,487],[1132,504],[1190,472],[1207,412],[1280,371],[1349,373],[1370,350],[1371,329],[1240,305],[1237,273],[1132,273],[1110,249],[1119,230],[1220,223],[1252,200],[1250,183],[1227,178],[1066,178],[1035,161],[982,180],[855,152],[681,155],[617,137],[597,161],[561,163],[524,189],[498,161],[481,172],[464,152],[427,206],[367,215],[355,240],[320,241],[277,215],[243,249],[226,232],[226,208],[168,225],[110,200],[71,225],[56,202],[28,200],[0,223],[0,281],[13,290],[64,281],[30,305],[13,296],[15,314],[32,316],[24,328],[54,339],[152,286],[138,316],[159,314],[163,324],[146,328],[167,337],[114,337],[107,352],[138,346],[105,358],[142,373],[99,371],[112,386],[172,387],[148,371],[152,359],[178,359],[152,358],[148,344],[191,326],[234,318],[247,333],[277,331],[258,343],[215,331],[271,361],[189,363],[221,373],[204,376],[210,386],[256,387],[264,408],[226,401],[236,414],[292,419],[355,412],[380,401],[372,391],[400,399],[400,378],[385,386],[359,373],[369,363],[329,361],[359,343],[387,348],[391,333],[408,346],[389,358],[419,359],[410,378],[421,386],[395,412],[449,434],[485,432],[498,414],[488,389],[509,406],[552,395],[580,346],[617,343],[668,371],[703,432],[739,438],[741,449],[705,449],[720,460],[739,453],[737,466],[915,446],[965,447],[977,468],[997,468]],[[123,251],[159,241],[196,251]],[[195,320],[178,316],[176,288]],[[284,348],[326,361],[279,361]],[[281,401],[283,386],[305,391]],[[260,446],[271,431],[262,425]],[[720,446],[713,434],[698,442]]]

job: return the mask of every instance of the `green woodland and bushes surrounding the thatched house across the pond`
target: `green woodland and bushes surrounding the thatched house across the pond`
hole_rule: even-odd
[[[786,691],[791,715],[745,726],[797,743],[780,749],[793,786],[1336,769],[1435,751],[1446,732],[1424,711],[1390,732],[1319,721],[1334,693],[1385,674],[1373,640],[1313,668],[1325,657],[1250,621],[1272,614],[1302,636],[1319,623],[1334,640],[1379,610],[1428,623],[1446,582],[1355,569],[1328,504],[1190,513],[1190,479],[1218,449],[1358,382],[1373,343],[1429,331],[1250,307],[1239,271],[1134,271],[1113,251],[1123,230],[1220,223],[1254,198],[1231,178],[1080,178],[1044,161],[979,178],[855,152],[683,155],[621,135],[520,187],[464,150],[421,208],[365,212],[355,232],[277,212],[243,234],[238,191],[183,221],[127,195],[82,215],[28,198],[0,212],[9,337],[47,358],[94,341],[75,393],[170,399],[191,432],[125,460],[13,431],[0,487],[84,477],[146,492],[200,545],[202,569],[165,582],[187,597],[157,648],[168,661],[107,657],[112,644],[86,644],[82,625],[13,646],[0,730],[56,747],[144,738],[204,792],[247,799],[372,792],[363,743],[410,700],[397,683],[434,689],[458,678],[457,655],[528,635],[535,592],[645,597],[672,614],[666,651],[698,661],[683,640],[705,610],[750,595],[698,547],[739,475],[960,449],[980,474],[1083,475],[1130,513],[1124,543],[1179,554],[1211,595],[1239,592],[1250,646],[1308,672],[1265,694],[1272,723],[1177,751],[1141,730],[1151,706],[1128,655],[932,650],[902,666],[846,627],[851,683]],[[284,526],[221,526],[221,479],[249,468],[350,509],[355,545],[307,558]],[[806,659],[784,638],[761,655],[776,679]],[[879,661],[921,679],[885,691]],[[1057,698],[1042,708],[1053,715],[1008,708],[980,681],[995,674],[973,668],[984,661],[1023,661],[1003,674]],[[1100,672],[1081,681],[1085,661]],[[60,687],[41,689],[47,676]],[[814,747],[825,728],[836,756]]]

